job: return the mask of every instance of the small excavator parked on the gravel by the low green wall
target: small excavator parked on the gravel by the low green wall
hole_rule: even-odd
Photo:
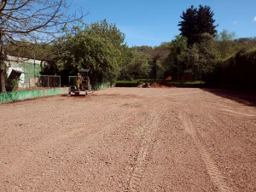
[[[79,69],[79,73],[76,80],[76,86],[71,86],[69,89],[70,96],[86,96],[88,93],[94,92],[91,89],[90,79],[88,72],[90,69]],[[86,75],[84,75],[86,73]]]

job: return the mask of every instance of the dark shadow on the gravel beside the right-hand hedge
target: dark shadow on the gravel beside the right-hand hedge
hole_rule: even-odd
[[[256,107],[256,94],[255,93],[244,93],[236,90],[221,90],[221,89],[201,89],[210,92],[216,96],[221,96],[241,104]]]

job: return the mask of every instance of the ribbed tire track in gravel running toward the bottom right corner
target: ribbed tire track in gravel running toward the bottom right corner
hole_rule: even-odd
[[[220,172],[220,170],[218,169],[218,166],[216,165],[214,160],[212,160],[210,152],[207,150],[205,145],[201,142],[200,134],[192,125],[192,122],[189,119],[189,114],[186,112],[183,112],[183,113],[185,114],[183,116],[182,114],[180,114],[180,116],[183,117],[182,120],[183,120],[184,129],[193,138],[195,142],[195,146],[198,148],[199,153],[201,155],[201,160],[203,160],[207,168],[207,172],[212,179],[212,183],[214,183],[215,186],[218,187],[220,191],[224,191],[224,192],[233,191],[233,189],[227,183],[226,178],[224,177],[222,172]]]

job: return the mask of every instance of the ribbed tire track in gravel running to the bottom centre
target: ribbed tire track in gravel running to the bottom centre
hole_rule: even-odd
[[[143,173],[147,169],[148,161],[152,159],[152,150],[154,148],[154,135],[158,130],[158,125],[160,124],[161,117],[164,115],[163,112],[166,111],[166,106],[161,108],[160,113],[155,115],[152,125],[143,125],[143,141],[141,143],[141,148],[137,153],[135,160],[135,167],[131,172],[129,179],[129,191],[138,191],[139,183],[143,178]],[[151,122],[149,122],[151,123]]]

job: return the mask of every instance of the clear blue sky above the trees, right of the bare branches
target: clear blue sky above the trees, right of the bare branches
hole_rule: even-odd
[[[211,7],[217,31],[236,38],[256,37],[256,0],[73,0],[69,11],[82,9],[84,22],[107,19],[125,33],[128,46],[159,46],[180,33],[178,22],[191,5]]]

